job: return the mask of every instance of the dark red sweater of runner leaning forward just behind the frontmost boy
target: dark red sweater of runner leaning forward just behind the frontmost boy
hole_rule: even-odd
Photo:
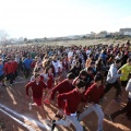
[[[62,93],[68,93],[72,90],[73,90],[72,84],[70,84],[68,79],[66,79],[52,88],[51,99],[55,99],[56,92],[59,92],[59,94],[62,94]]]

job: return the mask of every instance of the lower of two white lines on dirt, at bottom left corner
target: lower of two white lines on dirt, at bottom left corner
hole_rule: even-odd
[[[19,122],[21,126],[23,126],[24,128],[28,129],[29,131],[36,131],[35,129],[33,129],[29,126],[25,124],[24,122],[20,121],[19,119],[16,119],[12,115],[8,114],[7,111],[2,110],[1,108],[0,108],[0,111],[2,111],[3,114],[5,114],[7,116],[9,116],[14,121]]]

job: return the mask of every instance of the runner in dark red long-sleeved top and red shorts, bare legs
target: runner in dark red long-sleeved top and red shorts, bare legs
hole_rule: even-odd
[[[36,73],[35,80],[25,85],[27,98],[29,98],[29,94],[28,94],[29,87],[32,87],[33,100],[34,100],[33,104],[29,103],[29,109],[32,109],[32,106],[38,106],[41,112],[41,118],[44,120],[47,120],[46,111],[43,105],[43,92],[47,88],[47,85],[43,81],[40,81],[40,74]]]

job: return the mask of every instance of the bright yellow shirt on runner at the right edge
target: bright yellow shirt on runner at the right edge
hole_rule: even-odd
[[[119,69],[122,73],[122,76],[120,78],[120,81],[128,81],[129,73],[131,72],[131,66],[126,63]]]

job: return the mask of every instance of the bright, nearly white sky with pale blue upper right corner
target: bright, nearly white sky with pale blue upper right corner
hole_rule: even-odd
[[[131,0],[0,0],[0,29],[44,38],[131,27]]]

